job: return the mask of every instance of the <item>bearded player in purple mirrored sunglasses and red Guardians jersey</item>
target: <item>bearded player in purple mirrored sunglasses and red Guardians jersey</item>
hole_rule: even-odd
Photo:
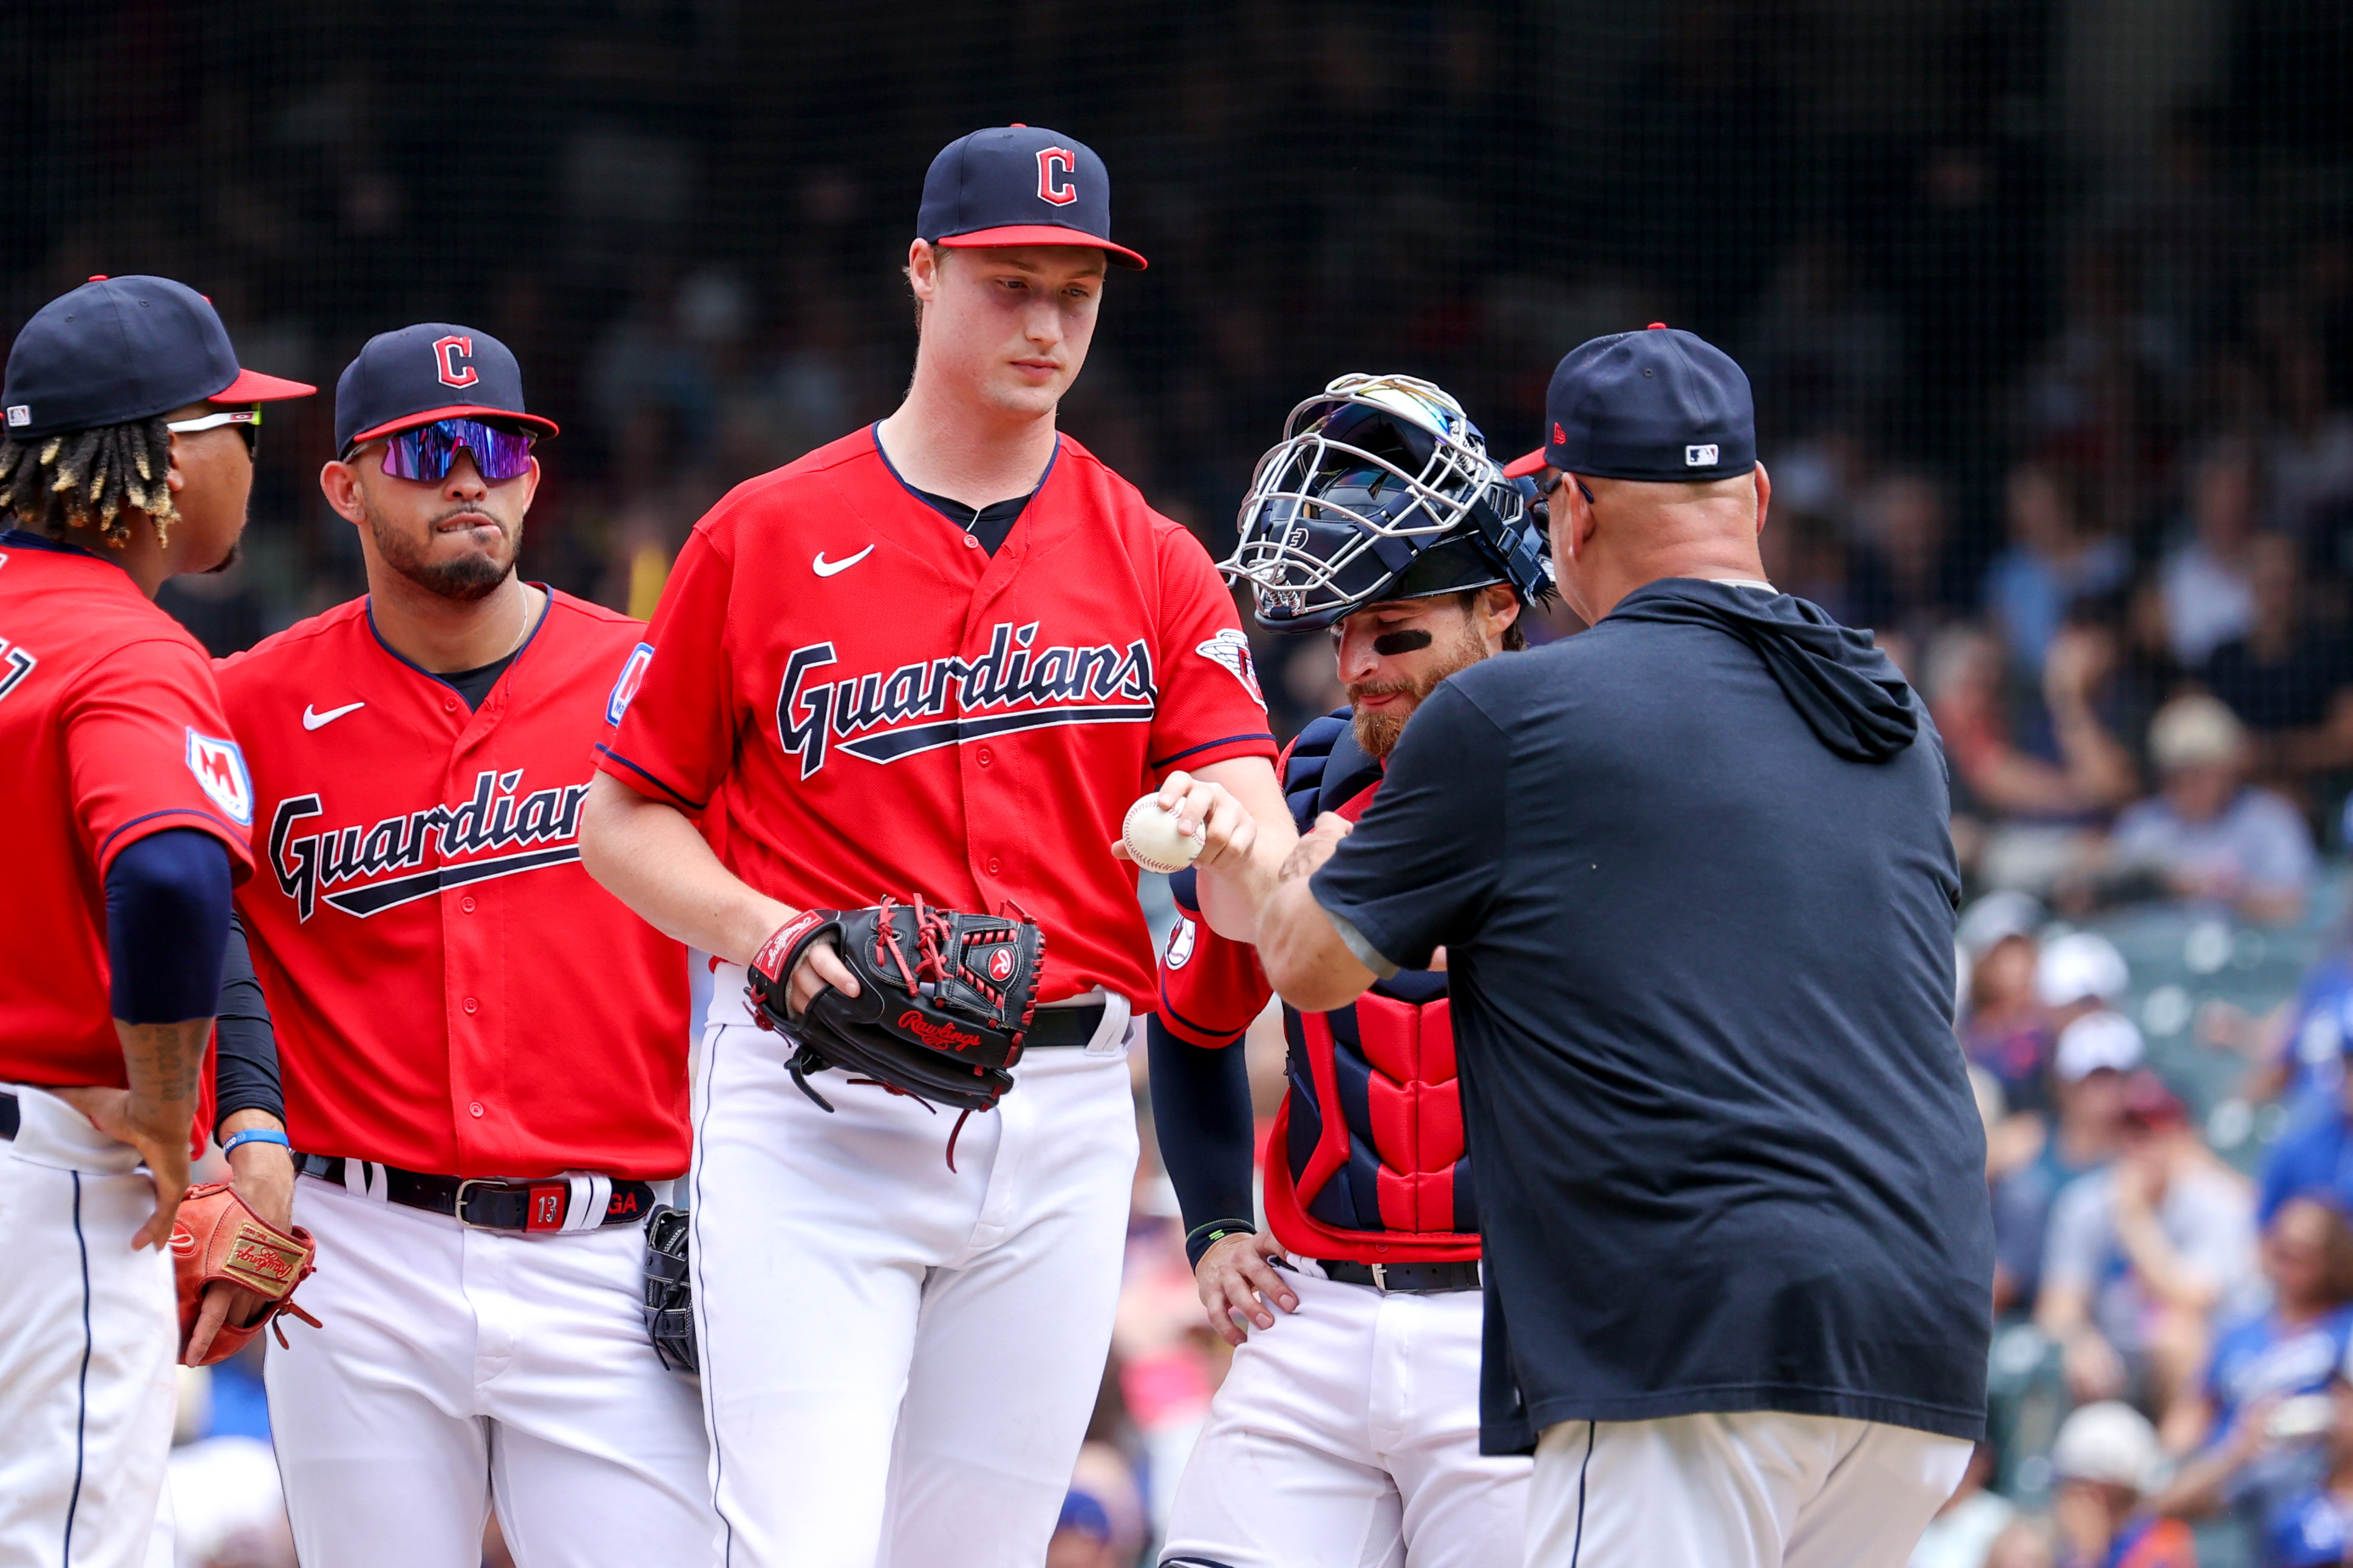
[[[708,1561],[701,1413],[638,1316],[687,1166],[687,954],[579,867],[640,623],[515,576],[539,482],[485,331],[369,339],[327,503],[367,597],[219,668],[266,870],[240,896],[329,1326],[268,1359],[311,1568]],[[621,682],[621,684],[616,684]]]

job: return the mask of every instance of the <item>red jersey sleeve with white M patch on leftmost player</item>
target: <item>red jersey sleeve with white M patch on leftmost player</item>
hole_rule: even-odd
[[[254,778],[228,733],[209,661],[155,637],[108,649],[75,679],[59,719],[82,849],[99,870],[169,827],[209,832],[228,875],[254,872]]]

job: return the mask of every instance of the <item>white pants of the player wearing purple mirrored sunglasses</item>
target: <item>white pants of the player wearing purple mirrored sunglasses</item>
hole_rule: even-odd
[[[638,1316],[645,1227],[508,1234],[296,1178],[318,1239],[264,1380],[304,1568],[713,1563],[694,1380]]]

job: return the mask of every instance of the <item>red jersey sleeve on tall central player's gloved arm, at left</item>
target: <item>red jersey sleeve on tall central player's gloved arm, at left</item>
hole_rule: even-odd
[[[640,795],[701,813],[736,745],[736,684],[727,654],[734,567],[694,529],[661,588],[661,604],[605,701],[598,769]]]

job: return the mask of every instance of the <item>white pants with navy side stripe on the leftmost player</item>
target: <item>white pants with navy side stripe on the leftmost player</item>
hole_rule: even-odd
[[[56,1095],[0,1088],[19,1112],[0,1143],[0,1566],[139,1568],[179,1403],[172,1255],[132,1251],[155,1182]]]

